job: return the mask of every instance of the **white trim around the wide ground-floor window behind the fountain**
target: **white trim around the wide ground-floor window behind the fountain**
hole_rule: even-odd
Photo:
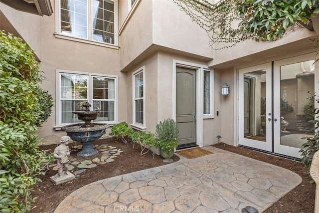
[[[92,100],[92,76],[101,76],[101,77],[107,77],[107,78],[114,78],[115,79],[115,104],[114,104],[114,121],[99,121],[99,123],[107,123],[110,125],[118,123],[118,117],[119,117],[119,77],[117,75],[107,75],[107,74],[101,74],[101,73],[92,73],[92,72],[81,72],[81,71],[73,71],[73,70],[63,70],[63,69],[56,69],[55,70],[55,79],[56,79],[56,85],[55,85],[55,126],[53,127],[55,130],[61,130],[61,127],[67,125],[67,124],[61,124],[61,105],[60,105],[60,94],[61,94],[61,85],[60,85],[60,73],[65,74],[75,74],[75,75],[87,75],[88,76],[88,100]]]

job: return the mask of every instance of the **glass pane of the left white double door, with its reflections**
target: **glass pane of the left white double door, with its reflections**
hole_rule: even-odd
[[[266,71],[244,74],[244,136],[266,142]]]

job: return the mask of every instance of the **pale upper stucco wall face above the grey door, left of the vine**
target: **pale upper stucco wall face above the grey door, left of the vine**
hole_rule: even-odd
[[[154,0],[153,43],[213,58],[206,31],[171,0]]]

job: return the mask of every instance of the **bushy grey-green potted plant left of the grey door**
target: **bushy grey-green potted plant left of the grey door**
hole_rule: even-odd
[[[156,136],[158,138],[158,147],[160,155],[164,158],[163,162],[171,163],[171,157],[174,155],[174,149],[178,146],[177,136],[179,133],[176,122],[171,119],[164,119],[156,125]]]

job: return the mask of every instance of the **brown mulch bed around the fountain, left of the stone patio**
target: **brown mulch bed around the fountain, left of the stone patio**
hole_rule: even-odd
[[[50,177],[57,174],[57,171],[47,171],[45,176],[40,176],[42,182],[37,183],[33,187],[35,191],[32,193],[32,196],[38,197],[38,199],[32,205],[33,209],[31,210],[31,213],[53,213],[67,195],[92,182],[166,164],[162,162],[160,156],[155,155],[153,159],[153,156],[151,155],[152,152],[141,156],[141,148],[139,145],[135,145],[135,148],[133,149],[131,145],[118,143],[113,138],[98,140],[94,144],[108,144],[110,146],[115,146],[116,148],[121,149],[123,153],[115,158],[115,161],[104,165],[98,165],[92,169],[87,169],[84,173],[79,174],[78,178],[59,185],[54,185],[50,181]],[[49,145],[41,146],[40,148],[53,153],[56,146],[57,145]],[[69,144],[68,146],[71,148],[72,144]],[[76,156],[76,153],[77,152],[71,151],[71,156],[80,161],[92,160],[98,156],[78,157]],[[172,159],[174,162],[179,160],[176,155],[174,155]]]

